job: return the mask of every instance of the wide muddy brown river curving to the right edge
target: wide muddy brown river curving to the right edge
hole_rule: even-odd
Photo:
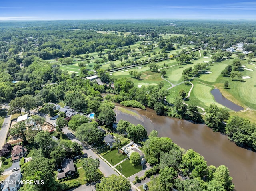
[[[117,106],[121,106],[117,104]],[[152,130],[158,131],[158,136],[169,137],[174,143],[186,150],[192,148],[207,161],[208,165],[216,167],[225,165],[233,177],[236,191],[254,191],[256,188],[256,153],[236,146],[227,136],[213,132],[203,124],[193,124],[186,120],[158,116],[154,110],[132,109],[121,106],[141,117],[124,114],[116,110],[117,122],[120,119],[132,124],[143,125],[148,134]]]

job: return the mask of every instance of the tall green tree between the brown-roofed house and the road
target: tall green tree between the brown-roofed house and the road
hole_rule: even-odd
[[[88,182],[95,182],[100,179],[100,174],[97,171],[100,167],[100,161],[98,158],[84,158],[82,160],[82,167],[84,169],[84,175]]]

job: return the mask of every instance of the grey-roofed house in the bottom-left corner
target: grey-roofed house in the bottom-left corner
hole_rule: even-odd
[[[8,176],[4,180],[4,183],[6,184],[1,184],[2,191],[18,191],[18,189],[20,189],[20,186],[21,186],[20,184],[18,184],[20,180],[21,180],[20,172],[15,175]]]

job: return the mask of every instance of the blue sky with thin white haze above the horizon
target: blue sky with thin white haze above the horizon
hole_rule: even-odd
[[[252,0],[2,0],[0,20],[256,20]]]

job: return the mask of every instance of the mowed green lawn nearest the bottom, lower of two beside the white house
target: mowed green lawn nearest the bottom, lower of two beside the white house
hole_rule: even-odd
[[[122,166],[122,171],[120,171],[120,165]],[[130,163],[130,160],[126,160],[122,162],[120,165],[116,166],[116,169],[118,169],[126,178],[130,177],[131,175],[134,175],[142,170],[142,166],[132,166]]]

